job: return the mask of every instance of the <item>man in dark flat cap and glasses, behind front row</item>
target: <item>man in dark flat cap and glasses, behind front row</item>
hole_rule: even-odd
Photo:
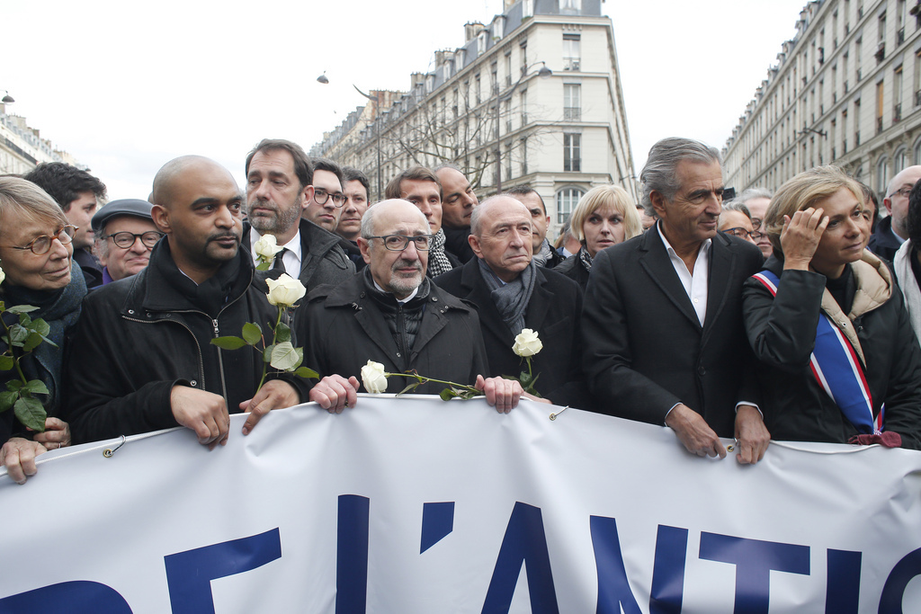
[[[153,205],[139,199],[112,201],[93,215],[94,251],[102,265],[102,284],[144,271],[163,233],[150,216]]]

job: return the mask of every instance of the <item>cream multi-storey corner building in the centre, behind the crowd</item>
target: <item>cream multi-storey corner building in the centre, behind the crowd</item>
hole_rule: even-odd
[[[636,200],[610,17],[600,0],[506,0],[465,44],[435,53],[406,92],[371,90],[310,150],[361,168],[372,199],[402,169],[454,164],[484,198],[519,183],[558,228],[579,198],[615,183]]]

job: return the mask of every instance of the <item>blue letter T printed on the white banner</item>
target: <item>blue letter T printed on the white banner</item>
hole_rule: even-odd
[[[809,546],[701,533],[700,558],[736,566],[735,611],[768,614],[771,572],[810,574]]]

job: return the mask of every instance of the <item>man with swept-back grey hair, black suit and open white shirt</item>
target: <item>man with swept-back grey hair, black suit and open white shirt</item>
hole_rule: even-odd
[[[605,413],[666,424],[698,456],[724,458],[719,437],[734,436],[737,459],[755,463],[770,434],[756,405],[741,287],[764,258],[717,233],[723,174],[713,147],[659,141],[640,180],[659,222],[592,264],[582,318],[589,388]]]

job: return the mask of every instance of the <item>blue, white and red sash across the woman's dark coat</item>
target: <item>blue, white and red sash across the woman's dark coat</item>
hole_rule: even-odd
[[[771,295],[777,294],[780,280],[770,271],[752,275],[764,284]],[[845,418],[866,434],[882,433],[883,409],[873,418],[873,399],[857,353],[832,319],[820,314],[810,369],[819,386],[834,400]]]

